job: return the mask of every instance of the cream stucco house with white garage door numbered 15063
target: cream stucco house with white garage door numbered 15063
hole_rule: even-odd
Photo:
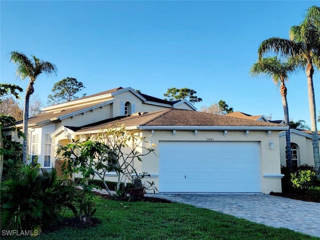
[[[156,144],[156,154],[133,164],[150,173],[160,192],[281,191],[278,132],[287,126],[199,112],[186,100],[165,101],[130,87],[43,110],[28,128],[29,155],[43,168],[54,166],[59,145],[119,122],[146,136],[144,147]],[[116,181],[115,172],[107,178]]]

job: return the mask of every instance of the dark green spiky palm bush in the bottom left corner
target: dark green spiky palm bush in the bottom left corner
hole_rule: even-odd
[[[63,207],[76,212],[76,189],[59,180],[54,168],[39,172],[32,165],[22,166],[19,174],[1,184],[0,196],[0,228],[5,230],[41,232],[58,222]]]

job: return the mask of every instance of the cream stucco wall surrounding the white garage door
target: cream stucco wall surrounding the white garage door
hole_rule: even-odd
[[[261,192],[269,193],[270,191],[281,191],[280,177],[265,177],[263,175],[280,174],[280,158],[279,158],[279,137],[277,131],[272,131],[270,136],[267,136],[266,131],[250,131],[248,136],[245,136],[245,131],[227,131],[227,136],[223,135],[223,131],[197,131],[197,136],[194,136],[194,131],[176,131],[176,135],[172,135],[172,131],[154,130],[154,136],[151,136],[150,131],[143,131],[146,136],[146,141],[151,140],[156,144],[155,154],[150,153],[142,159],[142,171],[151,174],[152,181],[155,186],[159,186],[159,159],[158,145],[161,140],[169,141],[205,141],[207,137],[213,137],[214,141],[258,141],[260,144],[260,161],[261,161]],[[274,149],[269,148],[269,141],[274,142]],[[148,143],[145,143],[145,147]],[[147,180],[147,178],[146,178]]]

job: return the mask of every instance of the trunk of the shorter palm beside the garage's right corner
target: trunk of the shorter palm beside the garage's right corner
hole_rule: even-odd
[[[289,110],[288,110],[288,102],[286,99],[286,86],[282,79],[281,79],[281,85],[280,85],[280,93],[282,96],[284,123],[285,125],[289,125]],[[291,158],[290,128],[285,131],[285,140],[286,140],[286,166],[291,170],[292,158]]]

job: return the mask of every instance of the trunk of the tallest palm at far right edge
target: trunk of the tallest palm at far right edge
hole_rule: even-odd
[[[307,63],[305,73],[307,76],[308,85],[308,98],[309,98],[309,112],[311,120],[311,133],[312,133],[312,147],[313,147],[313,160],[314,168],[317,176],[320,176],[320,160],[319,160],[319,141],[318,132],[316,127],[316,109],[315,109],[315,98],[314,98],[314,88],[313,88],[313,66],[311,62]]]

